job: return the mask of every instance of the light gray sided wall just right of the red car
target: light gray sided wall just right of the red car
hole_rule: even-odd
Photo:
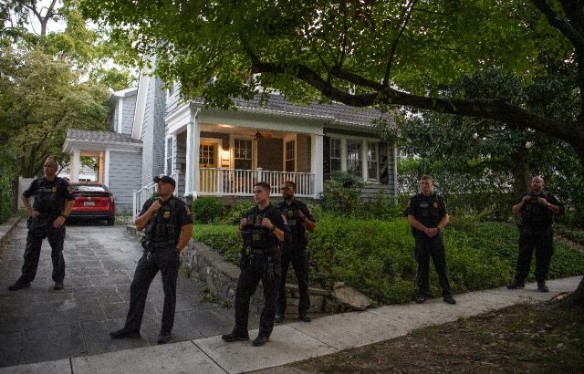
[[[110,151],[110,185],[116,212],[130,212],[132,190],[141,189],[141,153]]]

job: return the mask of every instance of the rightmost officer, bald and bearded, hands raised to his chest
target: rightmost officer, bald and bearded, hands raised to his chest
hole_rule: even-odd
[[[511,212],[520,215],[519,255],[517,256],[515,279],[507,285],[509,289],[524,288],[529,274],[531,255],[536,249],[537,290],[548,292],[547,272],[554,253],[554,214],[564,213],[564,205],[556,196],[544,191],[545,182],[540,176],[531,180],[531,192],[526,193],[513,205]]]

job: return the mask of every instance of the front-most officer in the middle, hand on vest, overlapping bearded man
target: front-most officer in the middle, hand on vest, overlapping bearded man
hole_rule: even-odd
[[[235,291],[235,327],[230,334],[221,337],[227,342],[249,340],[249,299],[260,280],[264,287],[264,308],[254,345],[266,344],[274,328],[277,285],[281,275],[279,246],[289,232],[282,215],[270,204],[269,193],[269,184],[255,183],[254,199],[257,205],[245,213],[239,223],[239,235],[244,245],[240,259],[241,274]]]

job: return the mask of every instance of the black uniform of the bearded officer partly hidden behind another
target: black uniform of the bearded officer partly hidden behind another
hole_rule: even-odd
[[[298,315],[305,316],[310,308],[310,297],[308,296],[308,242],[307,229],[298,212],[302,212],[312,222],[315,222],[315,219],[312,217],[307,205],[297,199],[294,199],[290,205],[286,201],[280,202],[277,204],[277,208],[286,217],[288,229],[290,230],[289,239],[285,241],[284,250],[282,251],[282,277],[278,287],[277,314],[284,316],[286,313],[286,278],[288,267],[292,263],[300,293]]]

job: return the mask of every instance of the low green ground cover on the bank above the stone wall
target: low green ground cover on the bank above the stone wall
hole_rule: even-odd
[[[473,231],[448,227],[443,235],[455,293],[503,286],[513,275],[518,239],[515,224],[474,223]],[[194,237],[237,264],[241,239],[235,226],[200,225]],[[417,292],[413,246],[412,231],[404,218],[339,219],[332,213],[320,213],[317,230],[308,234],[310,284],[331,289],[342,281],[376,303],[407,303]],[[550,277],[579,275],[582,268],[584,254],[556,244]],[[532,265],[532,273],[534,269]],[[433,268],[430,285],[432,295],[440,296]]]

